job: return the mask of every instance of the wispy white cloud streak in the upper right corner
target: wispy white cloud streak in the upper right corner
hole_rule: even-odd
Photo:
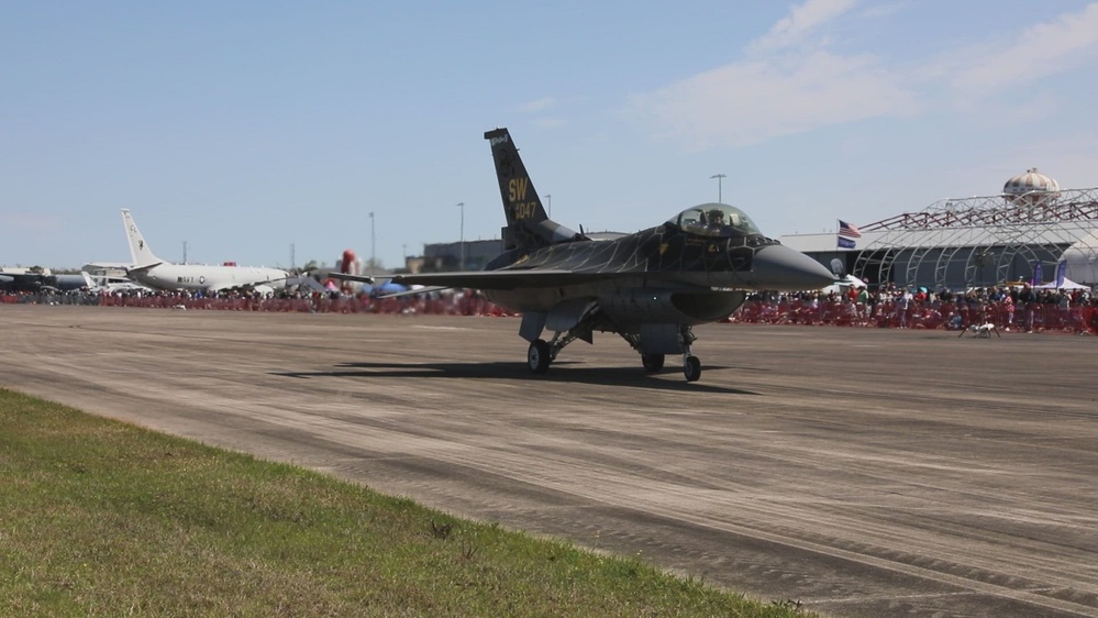
[[[1073,69],[1096,53],[1098,3],[1093,3],[1079,13],[1028,29],[1014,45],[983,54],[969,51],[965,58],[968,68],[956,73],[952,84],[969,91],[1014,88]]]

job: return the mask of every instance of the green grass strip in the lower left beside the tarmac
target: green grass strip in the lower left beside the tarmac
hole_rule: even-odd
[[[0,616],[808,615],[790,605],[0,388]]]

